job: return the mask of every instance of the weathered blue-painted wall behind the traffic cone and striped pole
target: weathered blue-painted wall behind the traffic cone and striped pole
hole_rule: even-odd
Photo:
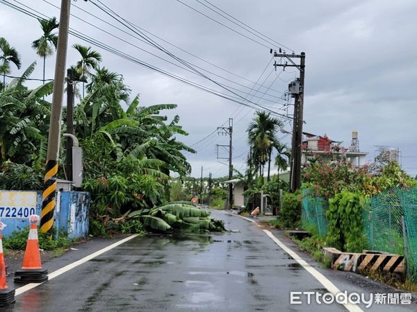
[[[1,194],[10,191],[0,191]],[[42,209],[42,192],[33,191],[13,191],[26,194],[33,194],[36,196],[35,214],[40,216]],[[58,201],[59,199],[59,201]],[[57,193],[57,207],[55,209],[54,226],[60,232],[68,234],[70,239],[81,238],[88,236],[88,211],[90,208],[90,193],[88,192],[58,192]],[[8,205],[5,202],[0,202],[0,207]],[[10,205],[10,204],[9,204]],[[57,217],[58,216],[58,217]],[[9,236],[14,231],[19,231],[23,227],[29,225],[28,218],[1,218],[1,221],[6,224],[3,229],[3,236]]]

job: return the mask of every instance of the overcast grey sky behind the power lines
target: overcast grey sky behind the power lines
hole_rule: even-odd
[[[38,60],[31,42],[40,37],[40,27],[36,19],[4,2],[36,10],[36,15],[59,17],[60,1],[0,0],[0,36],[22,55],[23,70]],[[252,33],[216,14],[211,4],[229,14],[221,12],[231,21],[250,26]],[[104,5],[124,19],[125,26],[111,12],[106,14]],[[163,76],[137,61],[286,115],[293,113],[293,105],[285,105],[283,94],[298,73],[294,68],[275,71],[272,62],[279,58],[272,60],[270,48],[304,51],[304,131],[327,134],[349,146],[351,132],[357,130],[360,148],[369,153],[369,159],[375,156],[376,146],[399,148],[403,168],[417,174],[415,0],[301,0],[296,5],[279,0],[79,0],[72,1],[71,12],[74,33],[88,35],[135,60],[93,46],[103,55],[101,66],[122,73],[133,94],[140,94],[141,105],[178,105],[168,115],[179,114],[190,133],[181,139],[198,152],[188,155],[194,176],[200,175],[201,166],[205,176],[209,172],[213,177],[227,175],[227,166],[216,159],[215,144],[228,144],[228,139],[215,130],[229,118],[234,119],[234,166],[244,170],[249,149],[245,129],[254,110]],[[143,35],[177,59],[143,42]],[[70,35],[69,46],[74,43],[92,45]],[[211,80],[192,72],[179,58]],[[77,52],[69,49],[67,64],[78,59]],[[47,60],[47,78],[53,78],[54,62],[55,55]],[[42,62],[38,64],[33,78],[42,78]],[[17,76],[19,71],[12,74]],[[283,122],[291,131],[290,120],[283,118]],[[288,135],[279,136],[290,143]],[[219,153],[227,157],[226,150],[220,148]]]

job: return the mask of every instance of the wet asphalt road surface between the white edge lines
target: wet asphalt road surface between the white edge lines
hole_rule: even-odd
[[[346,311],[291,305],[290,291],[327,291],[259,227],[212,214],[239,232],[137,237],[19,295],[12,311]]]

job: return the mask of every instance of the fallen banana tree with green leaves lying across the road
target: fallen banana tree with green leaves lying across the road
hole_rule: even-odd
[[[210,211],[195,207],[191,202],[179,201],[133,211],[128,218],[139,218],[152,232],[224,232],[222,220],[210,218]]]

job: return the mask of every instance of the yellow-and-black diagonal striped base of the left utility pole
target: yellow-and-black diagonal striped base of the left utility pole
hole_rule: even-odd
[[[52,234],[54,225],[56,174],[58,173],[58,162],[48,160],[45,168],[44,189],[42,192],[42,211],[40,213],[40,231]]]

